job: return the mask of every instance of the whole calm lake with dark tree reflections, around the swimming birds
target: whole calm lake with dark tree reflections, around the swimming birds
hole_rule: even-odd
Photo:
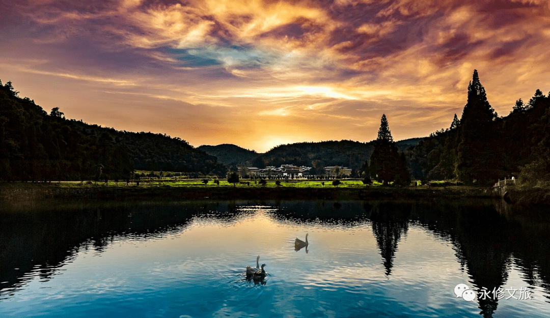
[[[548,317],[550,221],[514,208],[2,203],[0,316]]]

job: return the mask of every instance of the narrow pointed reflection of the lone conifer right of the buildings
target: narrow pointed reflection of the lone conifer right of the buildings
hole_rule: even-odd
[[[410,206],[403,204],[379,203],[371,209],[372,232],[376,236],[387,276],[392,272],[399,239],[408,230],[409,213]]]

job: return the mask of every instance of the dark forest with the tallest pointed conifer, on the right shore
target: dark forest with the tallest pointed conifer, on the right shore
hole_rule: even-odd
[[[550,96],[541,90],[528,103],[516,101],[499,117],[487,101],[477,70],[459,120],[406,151],[412,177],[492,184],[519,177],[550,181]]]

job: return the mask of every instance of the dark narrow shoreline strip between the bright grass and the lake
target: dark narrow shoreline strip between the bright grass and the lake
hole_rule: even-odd
[[[550,205],[545,189],[510,189],[512,203]],[[0,183],[0,202],[37,199],[155,200],[155,199],[259,199],[259,200],[393,200],[393,199],[501,198],[488,187],[231,187],[231,186],[64,186],[60,183]]]

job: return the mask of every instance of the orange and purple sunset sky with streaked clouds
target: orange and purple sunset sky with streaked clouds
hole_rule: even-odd
[[[548,0],[0,0],[0,80],[66,118],[233,143],[424,137],[550,91]]]

